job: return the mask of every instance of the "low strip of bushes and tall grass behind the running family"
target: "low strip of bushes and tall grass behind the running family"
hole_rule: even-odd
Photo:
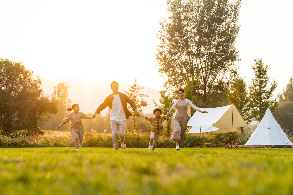
[[[218,143],[218,147],[223,147],[225,144],[223,141],[231,140],[231,134],[228,134],[226,138],[226,134],[213,134],[213,133],[202,133],[201,139],[204,141],[203,143]],[[201,144],[199,134],[186,134],[186,140],[183,141],[181,147],[199,147]],[[239,134],[234,132],[232,134],[233,139],[235,140],[239,137]],[[149,138],[150,132],[146,133],[137,133],[133,131],[126,130],[125,131],[125,144],[126,147],[129,148],[147,148],[149,146]],[[119,140],[119,136],[118,136]],[[244,144],[246,141],[244,140]],[[91,132],[84,134],[84,147],[113,147],[111,134],[95,132],[92,130]],[[45,134],[27,136],[23,135],[22,132],[17,132],[17,134],[12,134],[10,136],[0,135],[0,147],[74,147],[74,140],[71,139],[69,132],[56,132],[56,131],[47,131]],[[118,146],[120,146],[120,142],[118,141]],[[161,135],[157,148],[167,148],[167,147],[175,147],[176,144],[169,141],[169,137],[164,137]],[[205,144],[202,144],[201,147],[205,147]]]

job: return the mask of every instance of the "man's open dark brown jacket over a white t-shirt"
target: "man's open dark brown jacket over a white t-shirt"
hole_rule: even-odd
[[[130,116],[132,116],[132,114],[130,113],[130,111],[127,108],[127,103],[130,104],[130,106],[132,107],[133,111],[136,110],[137,108],[136,108],[134,102],[126,94],[122,94],[120,92],[118,92],[118,93],[119,93],[119,97],[120,97],[122,106],[123,106],[124,111],[125,111],[126,119],[127,119]],[[106,97],[104,102],[101,103],[101,105],[96,109],[96,112],[98,114],[100,114],[100,111],[104,110],[107,106],[109,106],[109,108],[112,110],[113,99],[114,99],[113,94],[111,94],[108,97]]]

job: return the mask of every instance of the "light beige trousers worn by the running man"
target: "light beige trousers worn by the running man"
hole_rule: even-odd
[[[118,140],[117,135],[119,132],[120,142],[124,142],[125,139],[125,124],[126,120],[110,120],[111,123],[111,129],[112,129],[112,141],[113,141],[113,147],[114,149],[118,148]]]

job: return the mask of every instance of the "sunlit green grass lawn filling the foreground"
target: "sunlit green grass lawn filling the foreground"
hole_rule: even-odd
[[[0,194],[293,194],[292,152],[0,149]]]

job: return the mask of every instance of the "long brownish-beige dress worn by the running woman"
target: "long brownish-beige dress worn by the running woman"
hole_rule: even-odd
[[[185,138],[185,132],[188,122],[187,115],[187,105],[185,101],[178,101],[177,103],[177,113],[174,118],[174,131],[171,134],[169,141],[175,142],[178,139],[179,144],[181,144]]]

